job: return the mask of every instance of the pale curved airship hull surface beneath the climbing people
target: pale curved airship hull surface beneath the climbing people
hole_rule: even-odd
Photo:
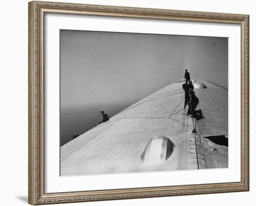
[[[176,81],[61,146],[61,175],[228,167],[228,147],[205,138],[228,138],[228,89],[195,82],[204,118],[184,115]]]

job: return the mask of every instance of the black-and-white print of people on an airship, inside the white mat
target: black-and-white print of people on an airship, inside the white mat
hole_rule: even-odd
[[[61,29],[61,176],[228,168],[228,43]]]

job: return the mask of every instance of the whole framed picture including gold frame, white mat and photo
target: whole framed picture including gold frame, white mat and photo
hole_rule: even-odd
[[[29,204],[249,191],[249,15],[28,7]]]

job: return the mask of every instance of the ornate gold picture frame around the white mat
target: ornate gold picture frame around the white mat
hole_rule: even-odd
[[[31,205],[249,191],[249,15],[32,1],[29,10],[28,203]],[[45,15],[225,23],[241,28],[240,181],[46,193],[45,179]],[[193,118],[192,118],[193,119]],[[230,125],[232,128],[232,125]],[[56,148],[58,150],[59,148]]]

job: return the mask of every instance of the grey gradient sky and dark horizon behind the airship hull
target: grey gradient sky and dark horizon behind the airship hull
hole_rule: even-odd
[[[214,46],[215,43],[215,46]],[[60,30],[61,146],[183,79],[228,87],[228,38]]]

